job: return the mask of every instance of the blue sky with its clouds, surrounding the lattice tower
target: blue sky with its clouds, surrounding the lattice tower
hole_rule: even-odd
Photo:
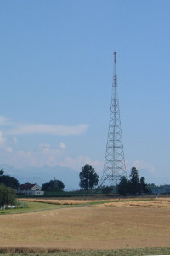
[[[170,183],[170,2],[0,1],[0,162],[101,173],[117,53],[127,169]]]

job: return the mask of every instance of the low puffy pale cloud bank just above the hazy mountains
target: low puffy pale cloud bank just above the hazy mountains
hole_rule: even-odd
[[[60,143],[60,147],[51,148],[50,144],[42,143],[34,150],[17,150],[10,146],[4,146],[0,155],[0,160],[4,164],[14,166],[16,168],[23,167],[42,167],[48,166],[65,166],[77,172],[80,172],[85,164],[92,165],[96,172],[103,170],[103,162],[99,160],[91,160],[88,156],[77,156],[75,158],[65,157],[65,144]]]

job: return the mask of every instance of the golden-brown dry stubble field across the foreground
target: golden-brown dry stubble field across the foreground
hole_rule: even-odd
[[[66,204],[65,200],[48,202]],[[74,207],[1,216],[0,247],[70,251],[170,245],[169,198],[102,200],[88,206],[76,202],[67,200]]]

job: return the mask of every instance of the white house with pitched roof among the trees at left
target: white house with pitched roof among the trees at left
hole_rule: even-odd
[[[41,187],[35,184],[22,184],[18,189],[18,193],[22,193],[24,195],[44,195],[44,191],[42,191]]]

